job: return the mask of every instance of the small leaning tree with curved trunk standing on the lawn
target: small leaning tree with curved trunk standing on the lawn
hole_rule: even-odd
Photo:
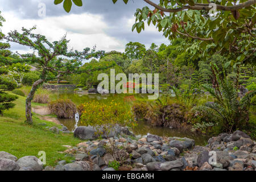
[[[4,36],[8,42],[27,46],[37,53],[20,55],[28,63],[37,63],[40,67],[40,78],[34,82],[26,99],[26,118],[30,124],[32,124],[31,101],[38,86],[47,80],[53,79],[49,75],[65,75],[76,72],[82,64],[82,60],[100,57],[104,53],[104,51],[96,52],[95,48],[91,52],[90,48],[85,48],[82,52],[68,51],[67,44],[69,40],[66,39],[66,35],[59,41],[51,43],[46,39],[46,36],[32,33],[33,30],[35,30],[35,27],[31,29],[22,28],[22,33],[14,30],[9,32],[8,36]],[[64,61],[63,56],[68,57],[70,60],[65,59]]]

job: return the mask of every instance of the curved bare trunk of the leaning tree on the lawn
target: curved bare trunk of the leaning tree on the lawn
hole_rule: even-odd
[[[32,88],[30,90],[30,93],[27,96],[26,99],[26,118],[27,118],[27,123],[31,124],[33,123],[32,121],[32,113],[31,113],[31,101],[34,98],[36,89],[38,88],[38,85],[42,84],[44,82],[43,79],[39,79],[38,81],[35,81],[34,84],[32,85]]]

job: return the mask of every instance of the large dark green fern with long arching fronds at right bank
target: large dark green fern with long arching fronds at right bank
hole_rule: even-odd
[[[220,132],[232,132],[242,129],[249,121],[249,106],[256,90],[250,91],[241,100],[232,81],[221,77],[217,67],[212,68],[213,85],[202,85],[214,98],[214,102],[193,107],[192,111],[199,117],[208,118],[208,121],[220,127]]]

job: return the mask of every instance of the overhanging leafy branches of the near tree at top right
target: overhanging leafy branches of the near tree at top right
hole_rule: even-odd
[[[55,0],[55,4],[63,1]],[[123,0],[125,3],[128,1]],[[152,23],[170,40],[181,37],[191,41],[193,46],[203,51],[203,56],[221,53],[230,56],[235,66],[241,62],[255,64],[256,0],[235,3],[233,0],[159,0],[158,4],[150,0],[143,1],[150,7],[137,9],[133,31],[136,28],[139,33],[144,30],[145,22],[148,25]],[[81,0],[73,2],[82,6]],[[64,1],[67,12],[71,6],[71,0]]]

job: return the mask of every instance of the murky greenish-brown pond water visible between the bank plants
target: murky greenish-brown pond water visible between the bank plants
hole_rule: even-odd
[[[97,100],[102,102],[109,102],[109,101],[122,101],[127,104],[126,98],[135,98],[135,100],[147,100],[147,94],[136,94],[135,96],[131,94],[108,94],[105,96],[102,96],[101,94],[86,94],[86,93],[80,93],[77,94],[73,92],[73,90],[61,90],[59,92],[55,92],[54,94],[56,98],[59,97],[66,97],[71,99],[75,104],[80,105],[87,101]],[[130,102],[128,102],[130,103]],[[130,103],[131,104],[131,103]],[[59,119],[60,123],[66,126],[70,131],[74,131],[76,127],[82,126],[82,124],[79,122],[79,117],[74,119]],[[148,125],[148,123],[144,121],[139,121],[138,126],[134,129],[131,129],[135,135],[147,135],[155,134],[162,137],[187,137],[195,139],[196,144],[198,145],[204,145],[207,140],[209,139],[208,136],[205,135],[199,135],[188,131],[182,131],[182,130],[176,130],[176,129],[170,129],[166,127],[155,127]]]

